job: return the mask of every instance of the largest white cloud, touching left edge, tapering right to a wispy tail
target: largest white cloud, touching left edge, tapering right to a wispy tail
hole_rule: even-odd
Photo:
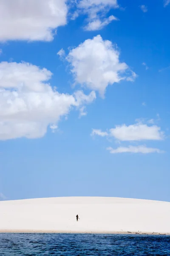
[[[0,63],[0,140],[42,137],[48,125],[96,98],[94,91],[58,93],[48,82],[51,76],[32,64]]]

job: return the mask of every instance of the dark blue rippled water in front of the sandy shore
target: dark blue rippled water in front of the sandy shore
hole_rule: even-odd
[[[170,236],[0,234],[0,256],[170,256]]]

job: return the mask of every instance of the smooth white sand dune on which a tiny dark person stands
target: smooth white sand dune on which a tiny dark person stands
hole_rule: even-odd
[[[170,203],[104,197],[1,201],[0,232],[167,234]]]

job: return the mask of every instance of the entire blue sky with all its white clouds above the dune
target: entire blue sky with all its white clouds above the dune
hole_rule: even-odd
[[[1,200],[170,201],[169,2],[2,1]]]

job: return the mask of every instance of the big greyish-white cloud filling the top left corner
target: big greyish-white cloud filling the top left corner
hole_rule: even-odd
[[[51,41],[67,23],[65,0],[1,0],[0,41]]]

